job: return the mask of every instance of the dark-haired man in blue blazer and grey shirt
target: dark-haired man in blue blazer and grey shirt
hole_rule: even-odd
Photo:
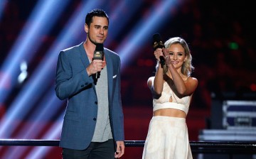
[[[59,99],[68,99],[60,137],[63,159],[124,155],[120,58],[104,48],[104,60],[93,59],[96,45],[107,38],[108,26],[105,11],[90,11],[85,18],[85,43],[58,56],[55,92]]]

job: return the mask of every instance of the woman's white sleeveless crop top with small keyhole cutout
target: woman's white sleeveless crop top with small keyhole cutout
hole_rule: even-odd
[[[152,84],[152,87],[153,84]],[[169,102],[169,99],[172,99],[172,102]],[[164,82],[163,92],[159,99],[153,99],[153,111],[158,109],[173,108],[184,111],[188,114],[189,104],[191,102],[191,97],[186,96],[183,98],[178,98],[176,94],[171,90],[171,87],[167,82]]]

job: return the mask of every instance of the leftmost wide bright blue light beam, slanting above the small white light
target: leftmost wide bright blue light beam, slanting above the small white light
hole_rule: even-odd
[[[58,5],[58,3],[62,5]],[[41,45],[40,38],[50,31],[67,4],[68,1],[61,0],[38,1],[31,17],[18,35],[11,52],[1,65],[0,103],[4,103],[11,90],[16,86],[17,77],[20,74],[20,63],[23,60],[28,64],[31,62],[33,56],[36,55],[36,50]],[[54,16],[52,16],[53,14]],[[9,84],[9,87],[6,87],[6,84]]]

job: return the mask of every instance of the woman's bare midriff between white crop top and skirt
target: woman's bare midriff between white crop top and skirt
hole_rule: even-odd
[[[153,112],[154,116],[171,116],[177,118],[186,118],[186,113],[184,111],[172,108],[158,109]]]

